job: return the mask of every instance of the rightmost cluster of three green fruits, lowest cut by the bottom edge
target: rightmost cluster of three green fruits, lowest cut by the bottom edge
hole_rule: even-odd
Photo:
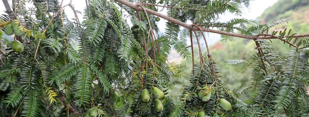
[[[204,90],[199,90],[198,93],[197,93],[197,95],[198,95],[198,97],[199,97],[202,101],[207,102],[207,101],[210,99],[212,93],[211,93],[210,90],[206,90],[206,91],[204,91]],[[231,103],[228,102],[226,99],[219,99],[219,105],[220,105],[220,107],[221,107],[222,109],[224,109],[224,110],[226,110],[226,111],[229,111],[229,110],[231,110],[231,108],[232,108]],[[204,117],[205,115],[206,115],[206,114],[205,114],[204,111],[200,111],[200,112],[198,112],[197,117]]]

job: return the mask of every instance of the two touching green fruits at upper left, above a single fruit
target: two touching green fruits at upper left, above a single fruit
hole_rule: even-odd
[[[15,34],[16,36],[22,36],[25,31],[23,30],[23,26],[18,20],[13,20],[12,22],[5,25],[4,33],[6,35]]]

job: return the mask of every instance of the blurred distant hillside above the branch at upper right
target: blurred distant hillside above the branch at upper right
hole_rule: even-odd
[[[276,29],[288,28],[299,34],[308,33],[309,0],[278,0],[273,6],[267,8],[258,19],[262,19],[262,22],[292,19],[289,24],[277,26]]]

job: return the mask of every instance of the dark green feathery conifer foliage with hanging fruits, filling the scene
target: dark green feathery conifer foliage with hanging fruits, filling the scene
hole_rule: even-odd
[[[248,19],[214,22],[225,12],[241,15],[239,0],[207,0],[203,5],[190,0],[86,2],[83,22],[72,1],[65,5],[58,0],[14,0],[13,11],[1,15],[1,29],[15,33],[23,46],[16,52],[11,42],[0,39],[1,116],[309,116],[309,39],[287,29],[270,31],[289,19],[264,24]],[[206,55],[200,51],[200,63],[194,64],[190,84],[181,89],[179,99],[167,96],[170,86],[182,84],[171,77],[181,77],[184,69],[167,60],[171,47],[184,59],[194,55],[179,38],[180,21],[168,20],[165,34],[155,34],[155,19],[160,16],[145,12],[158,10],[154,6],[165,7],[164,18],[175,20],[180,10],[194,11],[190,34],[218,27],[222,39],[246,36],[255,41],[257,52],[247,60],[226,61],[241,70],[252,69],[250,85],[240,91],[250,92],[250,98],[239,100],[239,92],[224,85],[211,50]],[[64,7],[71,7],[76,19],[69,20]],[[14,23],[18,27],[7,32],[5,27]],[[234,35],[235,30],[243,36]],[[278,55],[271,39],[293,49],[287,56]]]

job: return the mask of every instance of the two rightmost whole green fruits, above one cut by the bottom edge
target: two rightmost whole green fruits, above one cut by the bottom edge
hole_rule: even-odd
[[[205,94],[203,90],[200,90],[198,91],[198,97],[204,101],[204,102],[207,102],[210,97],[211,97],[211,92]],[[226,111],[229,111],[232,109],[232,105],[230,102],[228,102],[226,99],[220,99],[219,100],[219,105],[222,109],[226,110]],[[204,112],[204,111],[203,111]],[[205,112],[204,112],[205,113]],[[198,116],[199,117],[199,116]]]

